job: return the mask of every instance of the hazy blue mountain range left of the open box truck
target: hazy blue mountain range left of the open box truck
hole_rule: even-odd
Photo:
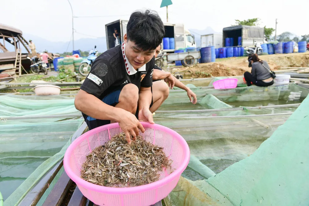
[[[47,50],[48,52],[52,53],[63,53],[66,51],[72,51],[72,41],[70,42],[70,45],[68,47],[69,42],[53,42],[46,40],[44,38],[41,38],[39,36],[35,36],[32,34],[23,34],[23,37],[28,41],[32,40],[33,43],[36,45],[36,51],[37,52],[43,52],[44,50]],[[106,38],[83,38],[83,39],[78,39],[74,41],[74,49],[75,50],[82,50],[82,51],[89,51],[94,46],[97,46],[97,50],[99,52],[104,52],[107,50],[106,47]]]

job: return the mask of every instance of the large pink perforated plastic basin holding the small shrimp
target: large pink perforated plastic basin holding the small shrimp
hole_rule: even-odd
[[[86,156],[121,132],[118,123],[92,129],[72,142],[64,155],[63,166],[78,189],[93,203],[104,206],[149,206],[165,198],[176,186],[180,174],[189,163],[190,150],[187,142],[180,134],[167,127],[141,123],[145,132],[140,135],[146,141],[164,148],[165,154],[173,161],[172,173],[165,170],[160,173],[158,181],[138,187],[104,187],[81,179],[80,171]]]

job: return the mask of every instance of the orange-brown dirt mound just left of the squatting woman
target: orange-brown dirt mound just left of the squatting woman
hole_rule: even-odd
[[[238,76],[243,75],[244,69],[237,67],[229,67],[218,63],[206,63],[194,65],[186,72],[186,76],[193,78],[204,78],[204,77],[226,77],[226,76]]]

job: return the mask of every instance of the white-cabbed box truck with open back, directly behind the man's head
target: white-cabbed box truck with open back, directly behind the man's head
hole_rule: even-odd
[[[128,20],[117,20],[105,25],[106,31],[106,45],[107,49],[113,48],[115,46],[115,37],[113,36],[114,28],[120,33],[120,43],[123,42],[123,36],[127,32],[127,24]],[[171,24],[171,23],[164,23],[165,28],[165,36],[169,38],[175,39],[175,49],[163,49],[163,42],[161,44],[161,49],[163,52],[167,53],[174,53],[175,50],[180,48],[187,48],[187,47],[195,47],[195,40],[194,36],[184,28],[183,24]]]

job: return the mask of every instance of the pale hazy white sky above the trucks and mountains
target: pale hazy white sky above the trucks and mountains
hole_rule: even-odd
[[[109,16],[102,18],[74,18],[74,39],[105,36],[105,24],[117,19],[129,19],[137,10],[155,10],[166,22],[166,7],[162,0],[70,0],[74,16]],[[212,27],[221,32],[235,19],[260,18],[261,26],[275,28],[277,34],[309,33],[308,0],[172,0],[168,7],[169,23],[183,23],[188,29]],[[307,22],[307,23],[306,23]],[[1,4],[0,23],[16,27],[23,33],[40,36],[50,41],[68,41],[72,34],[72,13],[67,0],[14,0]]]

